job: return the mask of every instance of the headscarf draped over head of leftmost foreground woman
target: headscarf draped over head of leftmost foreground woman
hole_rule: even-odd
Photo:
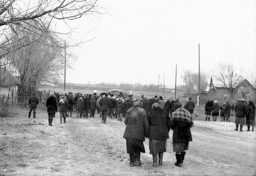
[[[140,101],[134,103],[134,106],[127,111],[127,114],[134,120],[140,119],[141,116],[146,115],[146,111],[142,107],[143,104]]]

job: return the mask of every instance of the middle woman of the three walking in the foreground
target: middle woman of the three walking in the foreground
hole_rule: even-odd
[[[158,165],[157,154],[159,165],[163,165],[163,153],[166,152],[167,138],[169,138],[170,117],[160,104],[154,103],[147,119],[150,124],[148,139],[150,139],[150,154],[153,155],[153,166]]]

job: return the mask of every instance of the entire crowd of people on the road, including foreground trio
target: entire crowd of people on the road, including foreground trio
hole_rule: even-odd
[[[33,93],[29,99],[31,112],[36,112],[38,98]],[[123,137],[126,139],[127,153],[130,155],[130,166],[141,165],[140,154],[145,153],[143,141],[145,138],[150,140],[150,154],[153,157],[153,166],[163,164],[163,153],[166,152],[167,139],[169,131],[173,132],[173,150],[176,153],[176,166],[181,167],[184,161],[188,144],[192,141],[190,128],[193,127],[193,113],[195,103],[191,97],[183,106],[179,98],[165,102],[162,96],[154,98],[144,97],[134,98],[132,95],[124,96],[123,93],[110,94],[103,92],[97,95],[82,93],[62,93],[51,92],[46,102],[49,125],[52,126],[53,118],[59,111],[60,123],[66,123],[66,117],[72,117],[76,114],[76,118],[88,118],[95,116],[97,111],[100,114],[101,122],[106,123],[106,119],[117,118],[126,125]],[[220,113],[219,113],[220,112]],[[247,124],[250,131],[250,125],[254,130],[255,125],[255,106],[252,101],[248,105],[244,99],[234,100],[232,105],[227,99],[219,105],[218,101],[208,100],[205,105],[205,121],[210,121],[212,116],[213,121],[217,117],[221,117],[221,121],[230,121],[230,114],[236,116],[236,131],[240,124],[242,132],[243,125]],[[197,114],[196,114],[197,116]],[[246,119],[245,119],[246,117]]]

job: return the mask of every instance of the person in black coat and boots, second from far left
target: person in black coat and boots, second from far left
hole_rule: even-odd
[[[52,126],[53,117],[55,117],[55,112],[57,112],[58,110],[57,100],[53,92],[50,93],[49,98],[47,98],[46,100],[46,107],[47,107],[47,113],[48,113],[49,126]]]

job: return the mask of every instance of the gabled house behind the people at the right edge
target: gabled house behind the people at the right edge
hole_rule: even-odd
[[[255,98],[255,88],[247,79],[244,79],[236,86],[236,89],[234,89],[233,96],[238,99]]]

